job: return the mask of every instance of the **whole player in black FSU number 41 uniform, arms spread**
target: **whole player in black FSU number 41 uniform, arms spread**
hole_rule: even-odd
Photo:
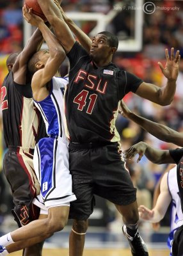
[[[128,92],[161,105],[170,104],[176,88],[179,51],[169,58],[166,86],[159,88],[120,70],[111,60],[118,47],[116,36],[102,32],[93,37],[90,54],[79,45],[58,7],[51,0],[38,0],[47,20],[60,40],[70,61],[69,84],[65,95],[66,118],[70,136],[70,172],[77,200],[71,204],[74,218],[70,234],[70,256],[83,255],[84,234],[95,198],[102,196],[116,205],[122,214],[123,232],[132,255],[148,255],[138,233],[136,189],[125,168],[120,151],[120,136],[115,128],[120,100]]]

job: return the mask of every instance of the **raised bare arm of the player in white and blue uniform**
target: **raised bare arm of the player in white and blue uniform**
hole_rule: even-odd
[[[44,24],[44,21],[31,13],[31,9],[24,9],[24,18],[33,26],[37,26],[42,32],[42,36],[47,43],[49,51],[39,51],[38,60],[35,65],[38,71],[35,72],[32,79],[33,97],[36,100],[45,99],[45,93],[47,90],[41,91],[41,88],[46,88],[46,84],[51,81],[52,77],[58,72],[63,60],[65,60],[65,51],[58,42],[56,36],[50,31]],[[38,99],[39,98],[39,99]]]

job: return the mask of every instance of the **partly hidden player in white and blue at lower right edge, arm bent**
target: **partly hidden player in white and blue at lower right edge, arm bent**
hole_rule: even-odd
[[[173,243],[173,236],[182,224],[183,214],[180,204],[179,188],[177,184],[177,166],[171,168],[169,172],[164,173],[160,185],[160,194],[157,198],[157,202],[152,210],[148,209],[144,205],[139,205],[139,218],[151,223],[157,223],[164,218],[168,206],[172,204],[171,209],[171,224],[170,234],[168,236],[168,248]]]

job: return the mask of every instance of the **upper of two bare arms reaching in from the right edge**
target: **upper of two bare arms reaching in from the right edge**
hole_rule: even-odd
[[[183,147],[183,134],[177,132],[166,125],[157,124],[139,115],[136,115],[127,108],[126,104],[121,101],[122,115],[131,119],[133,122],[141,126],[145,131],[149,132],[159,140],[174,143],[180,147]]]

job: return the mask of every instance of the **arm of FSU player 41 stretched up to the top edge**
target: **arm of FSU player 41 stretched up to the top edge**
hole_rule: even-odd
[[[60,9],[52,0],[38,0],[38,4],[54,29],[56,38],[60,41],[63,49],[65,49],[66,53],[70,52],[76,40],[70,28],[68,28],[68,25],[65,23]]]

